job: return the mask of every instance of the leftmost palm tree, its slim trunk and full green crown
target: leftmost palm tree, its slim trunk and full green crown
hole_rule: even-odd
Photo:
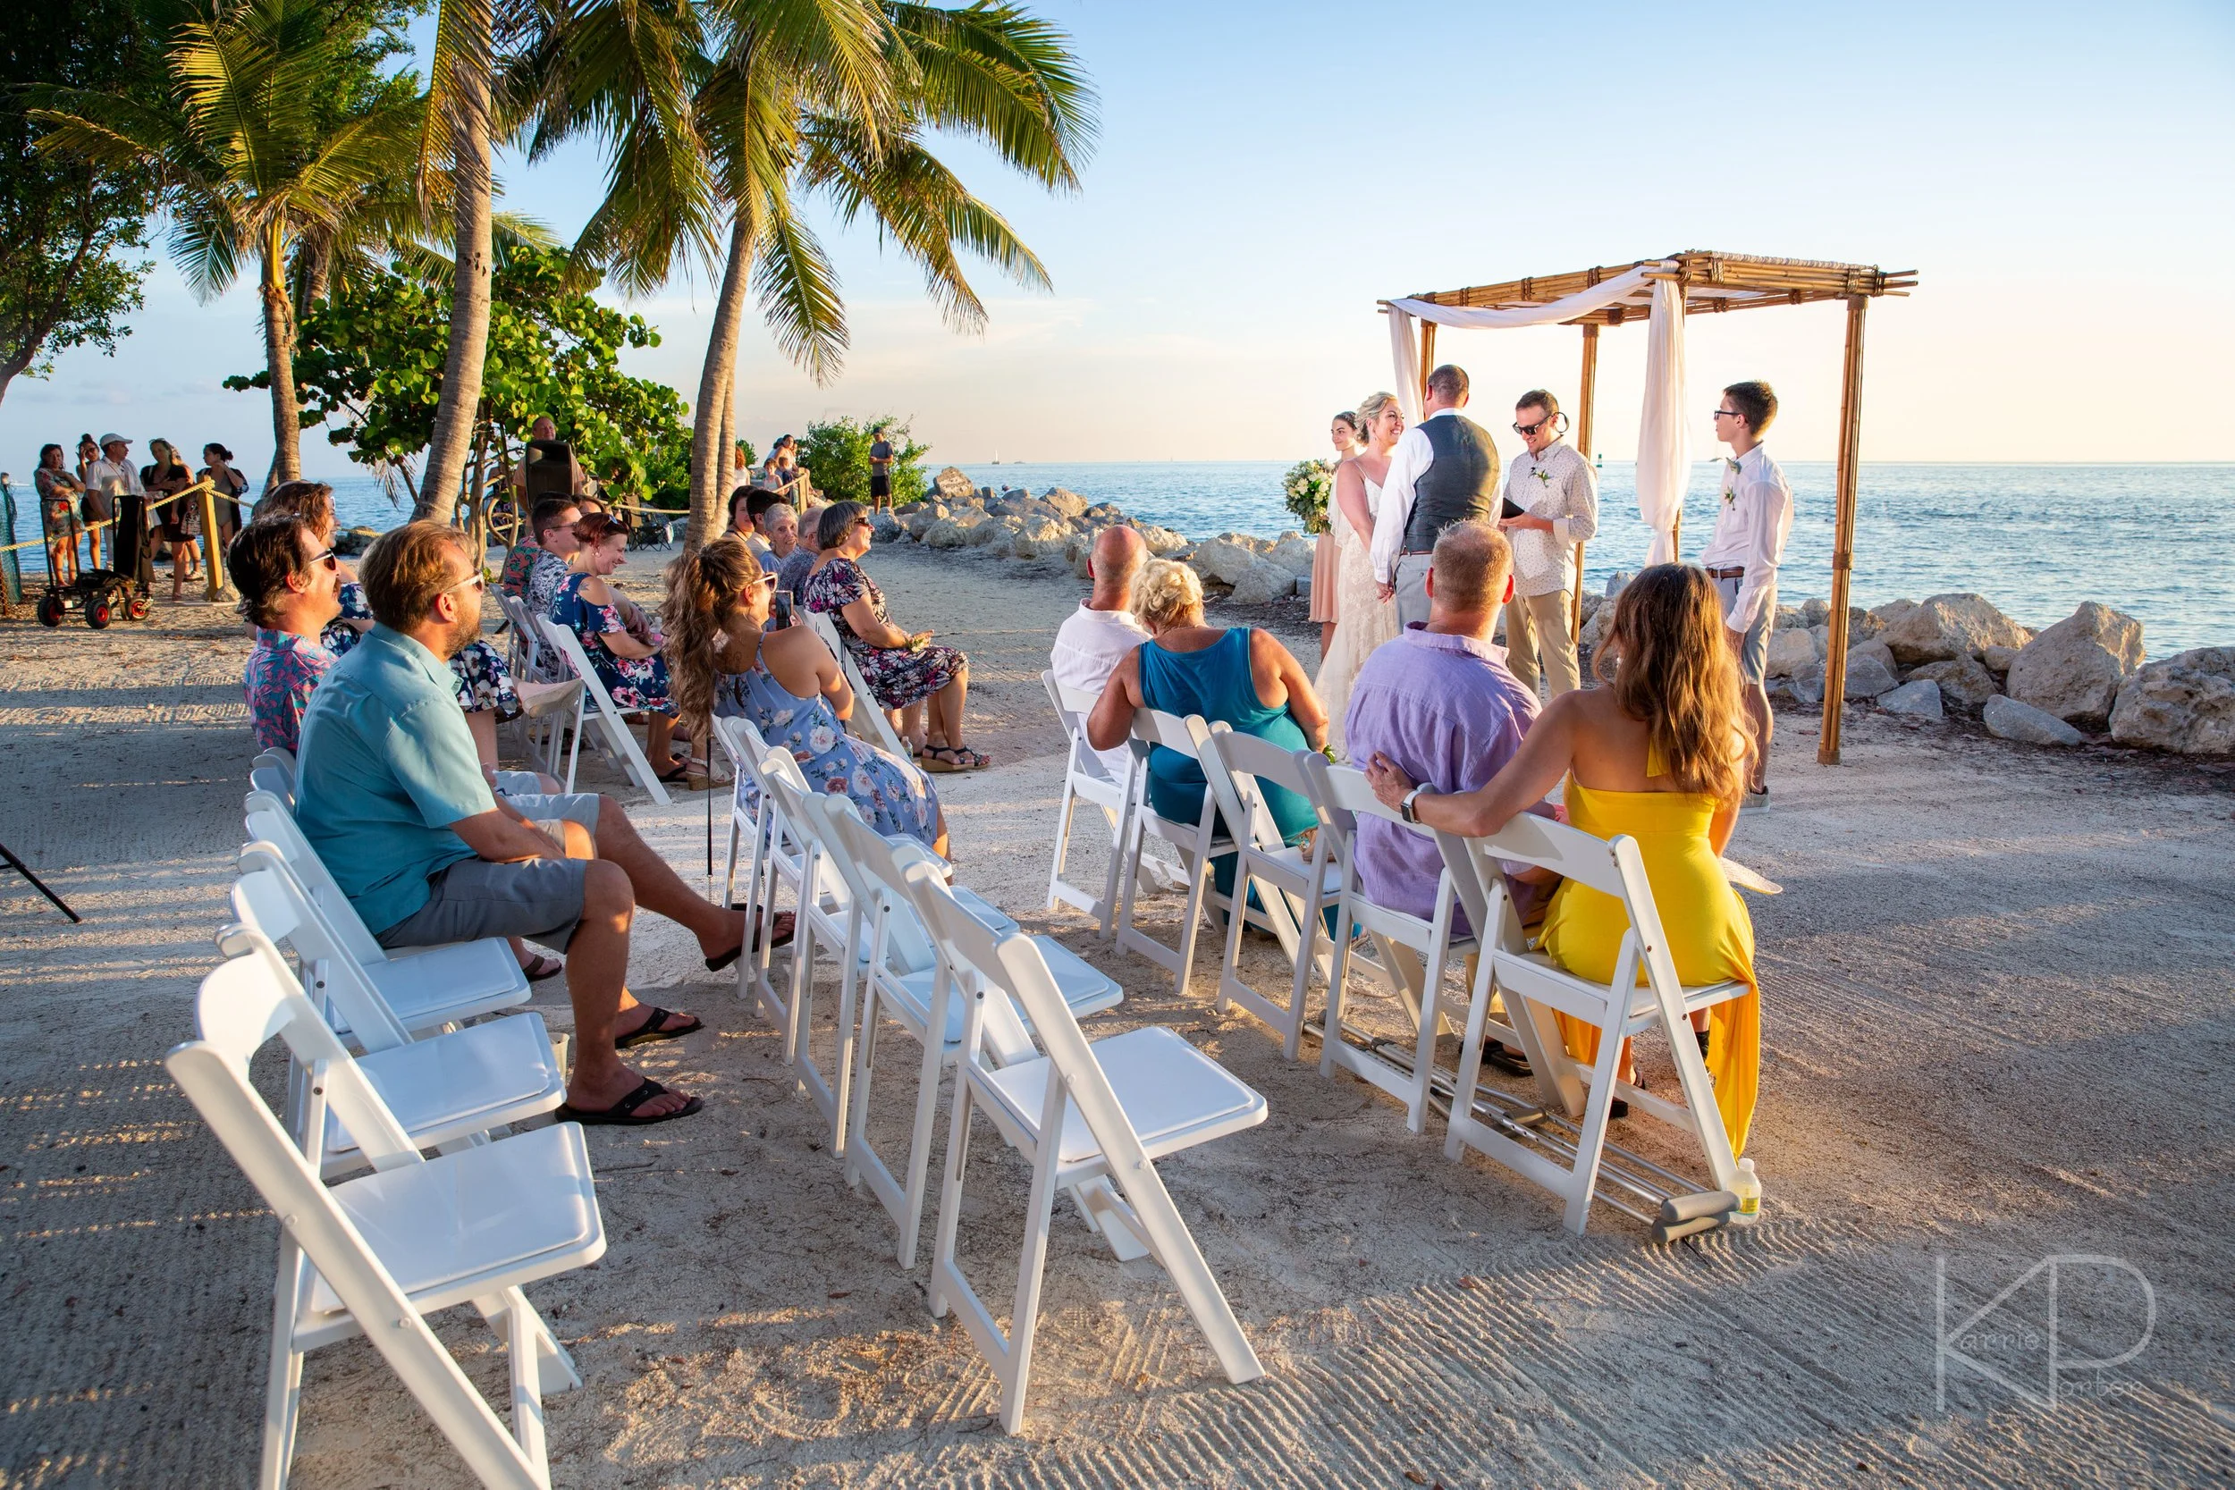
[[[364,85],[367,25],[326,0],[246,0],[181,25],[165,49],[174,109],[125,94],[34,89],[40,150],[145,168],[170,212],[170,255],[199,299],[259,266],[273,395],[273,480],[302,474],[288,259],[333,232],[373,183],[411,170],[420,98]]]

